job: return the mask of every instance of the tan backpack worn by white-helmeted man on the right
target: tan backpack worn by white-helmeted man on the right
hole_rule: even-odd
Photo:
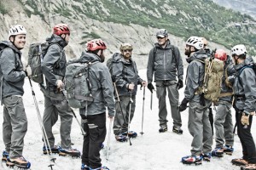
[[[197,90],[205,99],[217,102],[221,93],[221,83],[224,73],[224,62],[220,59],[207,58],[200,61],[205,65],[205,75],[202,86]]]

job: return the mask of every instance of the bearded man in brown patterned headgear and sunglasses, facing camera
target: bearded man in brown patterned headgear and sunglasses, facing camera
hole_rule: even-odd
[[[120,52],[113,54],[113,83],[116,86],[116,116],[113,121],[113,133],[115,139],[124,142],[129,138],[136,138],[137,133],[128,132],[128,126],[134,116],[136,106],[137,85],[147,86],[147,82],[138,76],[137,65],[131,58],[132,46],[130,43],[123,43]],[[132,101],[132,102],[131,102]],[[130,110],[131,108],[131,110]],[[130,122],[129,122],[130,121]],[[128,132],[128,135],[127,135]]]

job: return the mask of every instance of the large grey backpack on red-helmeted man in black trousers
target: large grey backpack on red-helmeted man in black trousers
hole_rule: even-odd
[[[69,61],[66,67],[65,88],[67,90],[68,105],[73,108],[84,108],[90,105],[93,97],[90,93],[89,69],[98,63],[81,63],[78,59]]]

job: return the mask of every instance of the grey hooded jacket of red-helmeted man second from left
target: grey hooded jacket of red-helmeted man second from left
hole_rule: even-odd
[[[63,48],[67,46],[67,42],[55,34],[47,38],[46,42],[50,42],[52,45],[44,55],[41,68],[49,91],[55,91],[56,81],[63,80],[66,72],[67,60]]]

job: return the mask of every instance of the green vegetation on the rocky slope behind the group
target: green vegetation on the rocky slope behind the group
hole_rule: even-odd
[[[58,7],[55,6],[53,12],[67,18],[84,14],[100,21],[166,28],[184,40],[190,36],[206,37],[212,42],[223,44],[226,48],[244,43],[251,54],[256,54],[256,21],[247,14],[220,7],[211,0],[99,0],[96,3],[88,0],[73,1],[76,3],[71,7],[64,2]],[[26,9],[29,16],[40,15],[35,2],[37,1],[26,1],[26,5],[33,8],[33,11]],[[3,10],[2,6],[0,10]],[[108,11],[108,14],[105,11]],[[254,24],[249,25],[244,21]],[[85,35],[84,38],[86,36],[96,38],[96,35]]]

